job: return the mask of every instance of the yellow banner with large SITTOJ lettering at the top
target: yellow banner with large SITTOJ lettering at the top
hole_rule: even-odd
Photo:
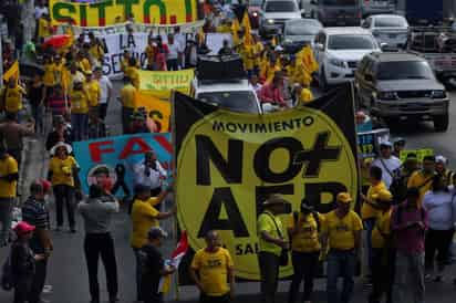
[[[135,23],[176,25],[197,20],[196,0],[106,0],[74,3],[50,0],[53,24],[106,27],[133,18]]]

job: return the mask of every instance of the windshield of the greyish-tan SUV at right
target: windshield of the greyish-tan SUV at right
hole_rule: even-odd
[[[407,79],[434,79],[434,74],[424,61],[383,62],[379,66],[377,80]]]

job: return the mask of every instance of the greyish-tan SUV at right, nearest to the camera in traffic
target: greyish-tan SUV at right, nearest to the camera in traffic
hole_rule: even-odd
[[[373,53],[355,73],[361,106],[387,124],[433,121],[437,132],[448,128],[449,98],[423,58],[410,53]]]

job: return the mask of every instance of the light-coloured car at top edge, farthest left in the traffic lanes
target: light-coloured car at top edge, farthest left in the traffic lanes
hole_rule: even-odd
[[[301,19],[304,10],[300,10],[296,0],[265,0],[260,11],[261,36],[280,34],[287,20]]]

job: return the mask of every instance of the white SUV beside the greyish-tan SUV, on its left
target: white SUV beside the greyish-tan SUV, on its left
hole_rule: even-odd
[[[353,81],[357,64],[372,52],[381,52],[381,48],[365,29],[323,29],[313,42],[313,53],[320,65],[320,86],[327,88],[328,85]]]

